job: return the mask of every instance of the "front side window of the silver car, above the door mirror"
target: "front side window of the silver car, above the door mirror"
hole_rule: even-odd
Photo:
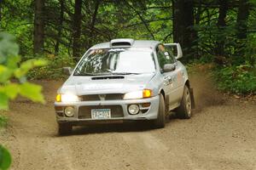
[[[170,54],[168,51],[166,51],[165,46],[162,44],[160,44],[156,48],[156,54],[157,54],[157,58],[158,58],[161,69],[164,68],[164,65],[172,64],[175,62],[173,55]]]

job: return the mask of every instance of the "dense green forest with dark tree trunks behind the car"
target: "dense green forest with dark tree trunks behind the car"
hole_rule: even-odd
[[[0,2],[0,29],[15,34],[20,54],[26,56],[22,60],[43,54],[53,61],[48,67],[33,71],[32,78],[63,77],[61,66],[73,65],[93,44],[131,37],[180,42],[184,61],[196,59],[218,65],[216,75],[221,89],[255,93],[254,88],[240,89],[241,85],[234,83],[236,80],[242,83],[244,79],[226,74],[247,65],[245,71],[250,76],[245,77],[254,80],[254,0]],[[236,71],[236,74],[247,73]],[[234,78],[234,82],[228,81]]]

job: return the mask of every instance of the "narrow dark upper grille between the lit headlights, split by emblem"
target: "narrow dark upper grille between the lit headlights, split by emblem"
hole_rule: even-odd
[[[115,100],[115,99],[123,99],[124,94],[104,94],[106,95],[104,100]],[[98,101],[101,100],[99,94],[90,94],[90,95],[82,95],[80,96],[82,101]]]

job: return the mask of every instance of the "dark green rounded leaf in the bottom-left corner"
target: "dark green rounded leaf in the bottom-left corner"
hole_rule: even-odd
[[[1,144],[0,144],[0,169],[1,170],[7,170],[9,169],[12,162],[12,158],[9,154],[9,151],[6,150]]]

